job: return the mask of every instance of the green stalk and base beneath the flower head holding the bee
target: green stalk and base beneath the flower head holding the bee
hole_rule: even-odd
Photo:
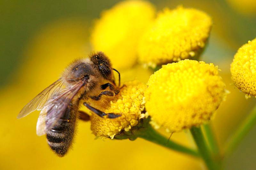
[[[122,131],[119,135],[115,136],[115,139],[130,139],[135,140],[137,137],[143,138],[155,144],[159,144],[166,148],[172,149],[174,151],[186,153],[195,157],[199,156],[199,153],[193,149],[182,146],[173,142],[172,140],[167,139],[166,137],[159,134],[152,126],[149,124],[149,118],[143,119],[138,126],[133,127],[130,131]]]

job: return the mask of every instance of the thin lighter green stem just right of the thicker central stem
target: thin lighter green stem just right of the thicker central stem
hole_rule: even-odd
[[[220,150],[210,124],[204,124],[204,132],[212,154],[216,159],[219,159]]]

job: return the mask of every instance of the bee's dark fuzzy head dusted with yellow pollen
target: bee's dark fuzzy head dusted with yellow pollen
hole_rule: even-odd
[[[109,58],[103,52],[99,51],[92,54],[91,61],[93,62],[93,64],[95,64],[97,69],[100,71],[100,75],[103,78],[107,80],[112,79],[112,74],[113,74],[112,64]]]

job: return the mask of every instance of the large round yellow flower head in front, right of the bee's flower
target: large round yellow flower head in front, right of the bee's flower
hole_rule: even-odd
[[[188,59],[164,65],[147,85],[145,107],[151,124],[169,132],[210,120],[226,94],[216,66]]]

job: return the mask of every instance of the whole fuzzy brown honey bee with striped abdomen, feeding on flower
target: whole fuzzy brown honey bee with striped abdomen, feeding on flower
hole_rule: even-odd
[[[116,86],[113,70],[119,75]],[[103,52],[91,54],[88,58],[72,62],[60,79],[52,83],[20,111],[22,118],[35,110],[41,110],[36,134],[46,134],[51,149],[64,156],[72,143],[81,99],[100,100],[103,95],[115,96],[120,90],[120,73],[112,68],[109,58]],[[109,88],[109,90],[106,90]],[[84,103],[100,117],[116,118],[121,115],[104,113]]]

